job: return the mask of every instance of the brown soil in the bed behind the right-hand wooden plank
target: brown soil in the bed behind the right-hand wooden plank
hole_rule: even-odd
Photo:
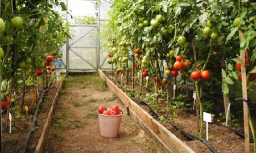
[[[124,88],[123,86],[120,85],[121,79],[119,76],[115,77],[110,77],[110,74],[105,73],[106,76],[109,76],[109,79],[112,80],[114,83],[117,84],[121,90],[125,91],[126,93],[129,92]],[[122,78],[122,84],[125,84],[125,75]],[[152,83],[148,83],[151,84]],[[127,88],[131,89],[131,81],[129,81],[129,84]],[[139,91],[139,84],[135,83],[135,90]],[[134,93],[134,91],[133,91]],[[150,93],[150,91],[147,91],[144,88],[144,94]],[[152,94],[152,93],[150,93]],[[134,94],[136,95],[136,94]],[[159,120],[157,116],[155,116],[154,113],[150,111],[150,109],[147,108],[147,106],[143,105],[141,103],[140,99],[137,99],[135,97],[131,97],[137,104],[141,105],[143,109],[145,109],[147,112],[151,114],[152,117],[156,118],[156,120]],[[166,100],[164,101],[158,101],[158,111],[160,110],[166,110]],[[189,113],[188,111],[185,111],[184,109],[172,109],[168,115],[166,113],[161,113],[165,118],[171,118],[172,122],[175,122],[177,125],[180,126],[181,129],[197,135],[198,128],[197,128],[197,118],[194,114]],[[174,126],[171,124],[168,124],[167,122],[162,122],[162,125],[166,126],[168,130],[170,130],[172,133],[174,133],[181,141],[183,141],[185,144],[187,144],[189,147],[192,148],[195,152],[211,152],[209,148],[203,143],[195,139],[191,139],[186,137],[185,135],[181,134],[180,131],[176,130]],[[241,124],[243,125],[243,124]],[[203,123],[203,138],[205,138],[205,122]],[[242,129],[242,127],[238,127],[237,129]],[[210,145],[212,145],[218,152],[245,152],[245,146],[244,146],[244,139],[235,134],[233,131],[226,129],[222,126],[218,126],[215,124],[209,124],[209,139],[208,142]],[[250,151],[253,152],[253,143],[250,144]]]

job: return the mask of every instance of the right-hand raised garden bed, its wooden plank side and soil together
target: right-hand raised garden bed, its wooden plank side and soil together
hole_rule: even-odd
[[[134,121],[138,122],[141,127],[146,127],[149,133],[153,133],[162,146],[168,147],[169,150],[174,152],[188,151],[188,152],[244,152],[244,139],[238,136],[233,130],[219,126],[216,124],[209,125],[209,141],[206,141],[205,134],[201,141],[192,137],[189,134],[197,135],[196,117],[191,112],[185,109],[175,109],[174,114],[158,113],[149,104],[145,104],[143,100],[136,97],[128,97],[125,92],[126,88],[121,86],[119,77],[110,76],[98,71],[102,79],[105,80],[109,88],[111,88],[115,94],[126,105]],[[125,80],[125,79],[122,79]],[[123,83],[124,84],[124,83]],[[130,84],[130,83],[129,83]],[[128,88],[131,88],[128,86]],[[135,87],[136,88],[136,87]],[[138,87],[137,87],[138,88]],[[121,90],[122,89],[122,90]],[[164,107],[160,105],[160,107]],[[161,108],[159,109],[161,110]],[[134,117],[135,116],[135,117]],[[160,121],[161,116],[166,118],[173,118],[172,121],[165,120]],[[141,121],[141,124],[139,121]],[[156,123],[157,122],[157,123]],[[170,124],[170,122],[172,124]],[[181,130],[177,130],[175,126],[178,126]],[[145,128],[143,128],[145,130]],[[148,133],[148,132],[147,132]],[[188,133],[188,134],[185,134]],[[204,125],[205,133],[205,125]],[[176,135],[176,136],[175,136]],[[204,143],[203,143],[204,142]],[[181,145],[177,145],[177,144]],[[174,145],[176,144],[176,145]],[[205,145],[206,144],[206,145]],[[207,147],[210,145],[210,147]],[[177,147],[179,146],[179,147]],[[167,149],[167,150],[168,150]],[[253,145],[250,145],[250,150],[253,150]]]

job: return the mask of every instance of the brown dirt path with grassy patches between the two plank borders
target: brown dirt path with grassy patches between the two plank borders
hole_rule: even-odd
[[[97,74],[68,77],[57,101],[45,152],[159,152],[123,114],[117,138],[100,135],[97,108],[117,104]]]

